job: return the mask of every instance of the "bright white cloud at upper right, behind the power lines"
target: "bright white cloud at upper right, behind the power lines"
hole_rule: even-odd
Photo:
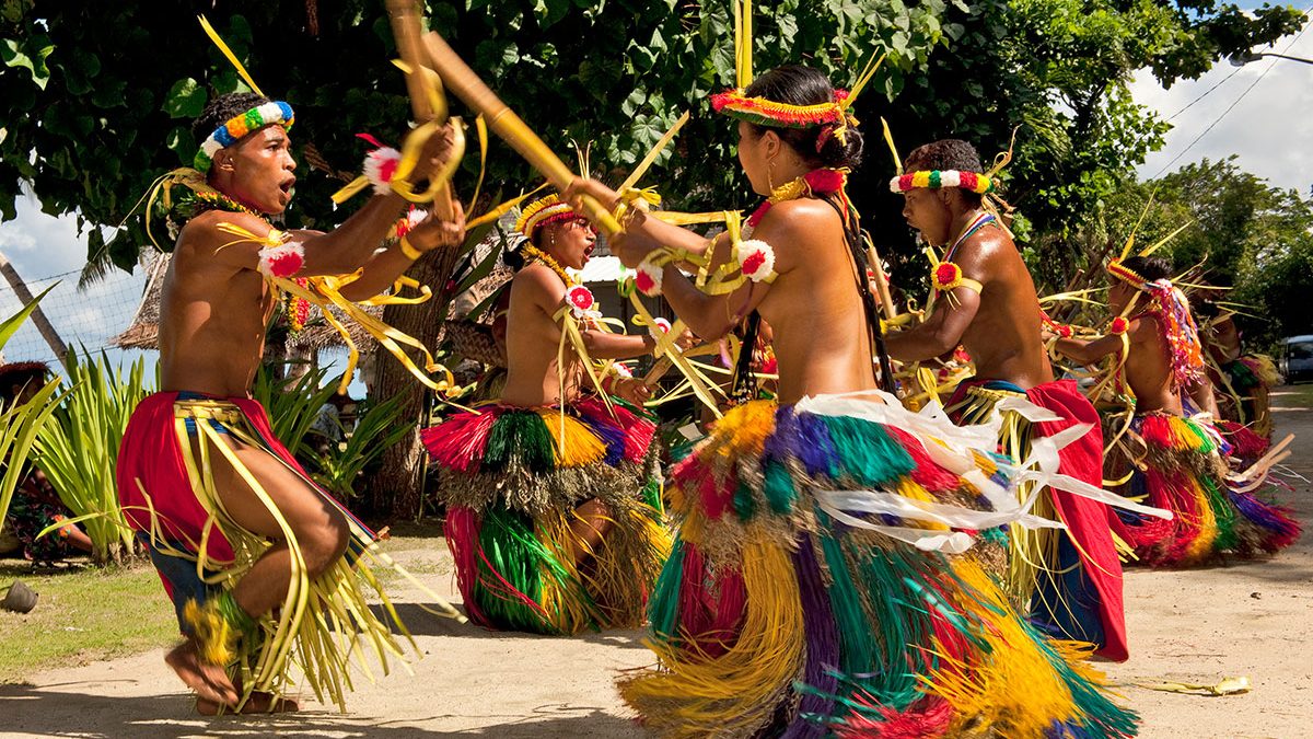
[[[1313,21],[1304,30],[1302,36],[1278,41],[1272,49],[1255,51],[1313,59]],[[1245,95],[1251,84],[1253,89]],[[1171,120],[1175,128],[1167,133],[1166,146],[1149,155],[1138,170],[1141,178],[1153,178],[1169,164],[1170,172],[1204,158],[1217,160],[1236,154],[1242,170],[1274,185],[1305,195],[1313,185],[1313,64],[1264,58],[1237,68],[1221,62],[1200,79],[1179,82],[1171,89],[1163,89],[1148,70],[1141,70],[1130,89],[1136,101],[1163,117],[1180,112],[1212,89]],[[1196,138],[1199,142],[1191,147]],[[1184,155],[1176,159],[1182,151]]]

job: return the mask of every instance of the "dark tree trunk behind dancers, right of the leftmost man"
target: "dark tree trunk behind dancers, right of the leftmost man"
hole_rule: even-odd
[[[433,298],[420,305],[389,305],[383,309],[383,322],[415,337],[429,351],[436,351],[450,302],[448,281],[461,251],[460,247],[445,249],[416,262],[408,275],[421,285],[429,285]],[[414,352],[411,358],[423,367]],[[376,366],[377,380],[370,394],[379,400],[400,398],[398,423],[407,423],[411,431],[383,452],[383,467],[373,483],[374,512],[390,512],[394,518],[415,519],[423,510],[424,448],[419,441],[419,429],[428,421],[429,391],[385,351],[377,355]]]

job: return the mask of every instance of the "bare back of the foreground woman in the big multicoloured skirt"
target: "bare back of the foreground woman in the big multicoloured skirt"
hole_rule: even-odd
[[[771,226],[784,226],[784,218],[789,226],[772,238]],[[839,214],[821,200],[780,203],[758,234],[775,249],[780,271],[758,306],[775,333],[780,402],[874,388],[867,314]]]

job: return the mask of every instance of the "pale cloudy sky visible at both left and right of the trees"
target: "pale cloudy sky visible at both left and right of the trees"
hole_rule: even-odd
[[[1258,5],[1241,3],[1241,7]],[[1279,41],[1272,50],[1313,59],[1313,29],[1305,26],[1305,30],[1302,36]],[[1136,75],[1132,91],[1137,101],[1163,117],[1175,114],[1166,146],[1140,167],[1141,176],[1155,176],[1169,164],[1175,170],[1203,158],[1236,154],[1241,168],[1309,196],[1313,187],[1313,64],[1262,59],[1237,68],[1222,62],[1199,80],[1176,83],[1171,89],[1162,89],[1142,71]],[[18,217],[0,224],[0,250],[25,279],[37,283],[79,270],[85,262],[87,241],[76,233],[72,218],[45,216],[35,200],[25,197],[20,199]],[[143,281],[140,271],[131,276],[116,272],[102,284],[79,293],[74,291],[76,275],[71,275],[47,298],[47,309],[66,341],[98,348],[127,326]],[[39,287],[45,284],[49,283]],[[0,285],[0,314],[9,314],[16,308],[13,293]],[[138,355],[130,352],[130,356]],[[146,356],[154,360],[154,352]],[[34,330],[25,327],[7,347],[5,358],[51,359],[51,352]],[[360,389],[355,392],[358,394]]]

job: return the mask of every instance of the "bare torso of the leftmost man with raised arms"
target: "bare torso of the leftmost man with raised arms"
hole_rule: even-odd
[[[231,241],[215,225],[231,216],[217,210],[197,216],[173,249],[160,298],[164,391],[249,393],[274,295],[259,271],[215,258],[215,250]]]

